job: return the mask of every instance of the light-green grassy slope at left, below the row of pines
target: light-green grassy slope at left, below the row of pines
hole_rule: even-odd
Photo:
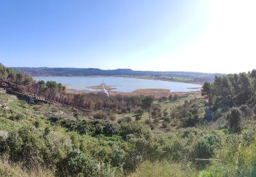
[[[11,131],[12,129],[19,129],[25,125],[34,125],[35,123],[41,129],[50,127],[47,120],[48,112],[64,112],[67,110],[61,106],[51,106],[41,103],[36,105],[29,105],[26,101],[18,99],[15,95],[7,93],[0,93],[0,100],[4,107],[0,107],[0,130]],[[18,116],[18,120],[12,120],[13,115]],[[68,114],[72,116],[72,113]],[[14,117],[15,118],[15,117]],[[55,131],[66,133],[66,129],[62,127],[52,127]]]

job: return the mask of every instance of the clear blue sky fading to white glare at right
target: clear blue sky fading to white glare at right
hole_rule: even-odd
[[[255,0],[0,0],[0,62],[238,73],[256,68]]]

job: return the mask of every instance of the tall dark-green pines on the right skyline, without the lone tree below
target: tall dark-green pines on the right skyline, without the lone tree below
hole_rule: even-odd
[[[212,110],[256,105],[256,69],[248,73],[216,76],[213,83],[203,84],[201,95],[208,98]]]

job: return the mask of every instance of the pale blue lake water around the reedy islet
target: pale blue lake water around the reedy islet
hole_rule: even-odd
[[[185,92],[195,91],[195,89],[191,88],[201,87],[199,84],[121,77],[35,77],[34,79],[44,81],[55,80],[56,82],[66,84],[67,88],[87,91],[95,91],[87,87],[98,86],[102,82],[108,86],[113,86],[116,88],[113,91],[118,92],[132,92],[139,88],[166,88],[171,92]]]

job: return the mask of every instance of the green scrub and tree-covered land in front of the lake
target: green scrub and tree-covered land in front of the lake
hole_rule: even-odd
[[[256,70],[201,95],[72,94],[0,66],[0,176],[256,176]]]

